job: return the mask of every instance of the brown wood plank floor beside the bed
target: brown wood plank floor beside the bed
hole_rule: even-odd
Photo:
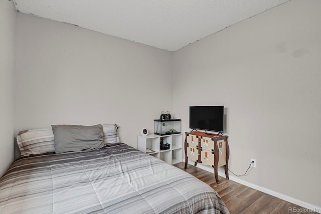
[[[185,163],[181,162],[174,164],[174,166],[185,170],[184,164]],[[185,171],[215,189],[230,210],[230,213],[291,213],[289,212],[289,207],[293,207],[293,209],[302,208],[301,206],[244,186],[232,180],[227,180],[225,177],[219,176],[220,184],[217,184],[215,182],[214,172],[211,173],[192,165],[188,165]]]

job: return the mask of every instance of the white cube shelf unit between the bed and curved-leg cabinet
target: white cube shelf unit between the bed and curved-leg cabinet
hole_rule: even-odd
[[[167,143],[170,144],[170,149],[161,150],[159,143],[161,138],[166,137]],[[138,150],[150,154],[154,157],[164,160],[170,164],[175,164],[183,161],[183,134],[171,134],[159,136],[149,134],[147,136],[138,136]],[[152,152],[147,152],[151,149]]]

